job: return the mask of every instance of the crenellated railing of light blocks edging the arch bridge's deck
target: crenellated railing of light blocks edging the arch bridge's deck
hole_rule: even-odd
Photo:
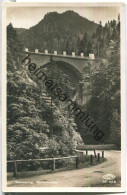
[[[25,52],[30,52],[28,48],[25,48]],[[57,51],[54,51],[54,53],[49,53],[48,50],[45,50],[44,53],[40,53],[38,49],[35,49],[35,52],[30,52],[30,53],[38,53],[38,54],[45,54],[45,55],[55,55],[55,56],[64,56],[64,57],[78,57],[78,58],[87,58],[87,59],[91,59],[94,60],[95,56],[94,54],[90,53],[89,57],[88,56],[84,56],[84,53],[80,53],[80,56],[76,56],[75,52],[72,52],[72,55],[67,55],[66,51],[63,51],[63,54],[58,54]]]

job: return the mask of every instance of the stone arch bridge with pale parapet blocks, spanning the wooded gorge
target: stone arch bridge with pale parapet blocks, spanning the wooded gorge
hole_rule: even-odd
[[[63,52],[63,55],[57,54],[57,51],[54,51],[53,54],[48,53],[48,50],[45,50],[44,53],[40,53],[38,49],[35,49],[35,52],[30,52],[27,48],[25,49],[25,54],[30,54],[32,62],[34,62],[38,67],[46,67],[50,64],[50,59],[52,56],[53,61],[62,69],[65,74],[72,79],[72,82],[77,88],[77,103],[79,105],[85,105],[86,96],[88,91],[86,89],[84,78],[87,72],[84,73],[84,69],[89,68],[89,64],[96,60],[94,54],[89,54],[89,57],[84,56],[81,53],[80,56],[76,56],[75,52],[72,52],[72,55],[67,55],[66,52]]]

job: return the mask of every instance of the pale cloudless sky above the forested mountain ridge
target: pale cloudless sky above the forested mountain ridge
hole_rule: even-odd
[[[63,13],[73,10],[80,16],[104,25],[108,20],[117,20],[119,7],[9,7],[7,9],[7,24],[10,22],[15,28],[30,28],[40,22],[48,12]]]

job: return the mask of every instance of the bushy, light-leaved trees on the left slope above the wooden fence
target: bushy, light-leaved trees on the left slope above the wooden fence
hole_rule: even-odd
[[[74,117],[47,102],[46,90],[21,63],[24,50],[11,24],[7,27],[7,147],[9,159],[67,156],[77,143]],[[47,97],[48,99],[48,97]],[[68,119],[69,118],[69,119]],[[47,148],[47,152],[44,152]]]

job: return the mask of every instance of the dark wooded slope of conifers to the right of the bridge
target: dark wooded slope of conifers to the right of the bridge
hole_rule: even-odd
[[[89,65],[89,80],[91,99],[86,110],[98,124],[105,136],[101,143],[114,143],[118,148],[121,144],[120,129],[120,18],[110,21],[97,28],[91,36],[93,53],[101,58],[101,63]],[[97,49],[99,47],[99,49]],[[84,47],[83,47],[84,48]],[[99,53],[97,54],[97,50]],[[103,59],[104,58],[104,59]],[[87,71],[87,70],[85,70]],[[78,128],[84,132],[84,127],[78,123]],[[92,133],[85,128],[83,133],[85,143],[96,143]]]

